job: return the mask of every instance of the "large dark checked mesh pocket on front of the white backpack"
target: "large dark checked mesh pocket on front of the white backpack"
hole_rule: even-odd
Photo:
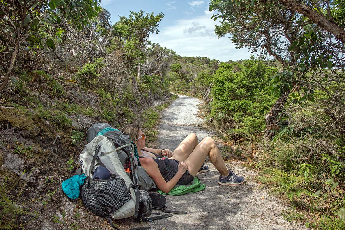
[[[132,199],[123,179],[92,180],[90,187],[85,180],[81,199],[85,207],[98,216],[105,217],[105,211],[112,214]]]

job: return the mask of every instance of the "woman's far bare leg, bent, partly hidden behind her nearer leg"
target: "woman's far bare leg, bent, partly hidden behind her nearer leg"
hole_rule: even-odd
[[[198,145],[198,138],[196,134],[195,133],[189,134],[174,150],[174,156],[171,159],[176,159],[178,161],[185,161],[197,145]]]

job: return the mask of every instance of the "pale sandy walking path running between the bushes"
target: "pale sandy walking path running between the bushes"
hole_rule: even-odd
[[[179,96],[163,113],[158,131],[159,146],[174,150],[189,133],[196,133],[199,141],[209,133],[198,127],[201,120],[196,116],[200,100]],[[298,223],[289,223],[280,215],[286,209],[284,203],[270,196],[265,189],[260,189],[254,181],[256,173],[242,166],[243,162],[227,163],[229,169],[247,179],[239,186],[220,186],[219,173],[210,162],[206,162],[210,171],[199,174],[199,179],[206,185],[201,192],[182,196],[167,196],[168,210],[187,211],[187,215],[174,214],[173,217],[134,224],[127,220],[119,225],[129,228],[151,227],[152,229],[306,229]],[[153,212],[161,211],[154,210]],[[154,215],[152,215],[154,216]]]

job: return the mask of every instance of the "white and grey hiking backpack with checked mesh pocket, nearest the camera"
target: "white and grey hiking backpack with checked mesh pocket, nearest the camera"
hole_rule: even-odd
[[[79,156],[81,170],[88,176],[81,188],[81,199],[89,211],[105,217],[112,227],[115,226],[110,218],[148,217],[152,211],[148,192],[138,188],[132,155],[134,147],[128,135],[118,130],[117,133],[118,136],[93,138]],[[129,164],[126,164],[127,159]],[[122,162],[129,168],[125,169]],[[93,179],[97,167],[109,170],[111,178]]]

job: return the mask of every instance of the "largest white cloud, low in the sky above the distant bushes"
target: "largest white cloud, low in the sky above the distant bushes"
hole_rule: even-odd
[[[152,42],[174,50],[181,56],[215,58],[220,61],[247,59],[251,52],[247,49],[236,49],[225,37],[219,38],[214,33],[214,24],[210,13],[193,19],[180,19],[172,26],[160,28],[159,34],[150,36]]]

